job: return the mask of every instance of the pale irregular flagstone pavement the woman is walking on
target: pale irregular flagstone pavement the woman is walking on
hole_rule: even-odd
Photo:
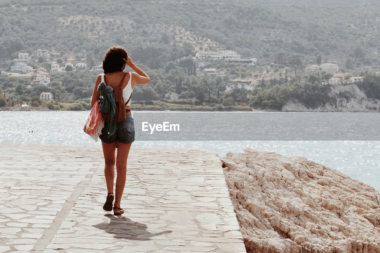
[[[215,153],[132,145],[119,216],[103,170],[101,146],[0,143],[0,253],[246,252]]]

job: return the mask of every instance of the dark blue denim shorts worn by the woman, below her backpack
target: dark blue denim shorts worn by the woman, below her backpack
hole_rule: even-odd
[[[122,143],[132,143],[135,141],[135,123],[133,122],[132,115],[126,115],[123,122],[116,123],[116,131],[109,136],[107,134],[107,126],[109,122],[104,122],[104,127],[101,130],[99,139],[101,141],[111,144],[114,141]]]

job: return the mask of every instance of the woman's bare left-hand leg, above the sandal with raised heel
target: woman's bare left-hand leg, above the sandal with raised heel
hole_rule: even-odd
[[[115,179],[115,150],[116,150],[116,141],[111,144],[101,142],[103,147],[104,154],[104,175],[106,177],[107,183],[107,194],[114,192],[114,179]]]

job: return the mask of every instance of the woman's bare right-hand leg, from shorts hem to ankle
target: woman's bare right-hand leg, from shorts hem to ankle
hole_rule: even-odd
[[[114,206],[120,207],[121,197],[123,195],[125,187],[125,178],[127,177],[127,159],[131,143],[117,143],[117,155],[116,155],[116,194]]]

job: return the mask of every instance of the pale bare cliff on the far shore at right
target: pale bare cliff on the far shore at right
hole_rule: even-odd
[[[329,96],[332,102],[318,108],[307,108],[296,100],[282,107],[283,112],[378,112],[380,100],[367,98],[359,89],[360,84],[331,85]]]

